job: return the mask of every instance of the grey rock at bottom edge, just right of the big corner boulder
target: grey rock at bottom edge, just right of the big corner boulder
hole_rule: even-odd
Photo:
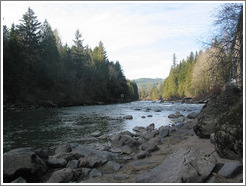
[[[73,180],[72,169],[64,168],[53,172],[47,183],[68,183],[72,180]]]

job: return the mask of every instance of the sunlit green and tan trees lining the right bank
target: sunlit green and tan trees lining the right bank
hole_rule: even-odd
[[[218,94],[226,84],[243,86],[243,8],[242,4],[225,4],[215,26],[217,35],[204,51],[193,52],[176,62],[169,76],[151,95],[152,99],[182,99]]]

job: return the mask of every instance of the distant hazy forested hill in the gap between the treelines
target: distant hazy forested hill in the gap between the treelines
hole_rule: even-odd
[[[139,89],[146,91],[148,88],[156,88],[163,80],[161,78],[139,78],[134,81],[137,83]]]

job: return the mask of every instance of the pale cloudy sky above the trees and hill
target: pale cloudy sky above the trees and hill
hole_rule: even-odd
[[[212,35],[213,2],[1,1],[1,22],[19,24],[28,7],[40,22],[73,44],[77,29],[92,49],[102,41],[109,61],[119,61],[127,79],[166,78],[172,65],[203,49]]]

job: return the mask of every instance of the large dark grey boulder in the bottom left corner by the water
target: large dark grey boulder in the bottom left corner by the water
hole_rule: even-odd
[[[38,182],[46,171],[46,163],[31,148],[14,149],[3,154],[4,182],[19,177],[27,182]]]

